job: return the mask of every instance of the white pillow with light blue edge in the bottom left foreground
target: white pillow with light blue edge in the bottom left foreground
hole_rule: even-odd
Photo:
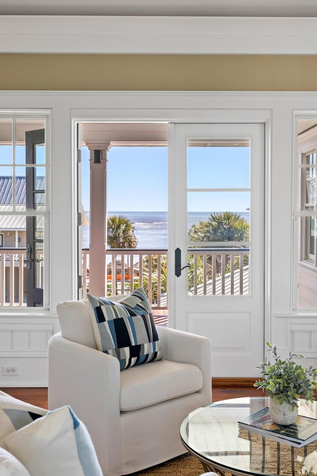
[[[68,406],[11,433],[0,446],[32,476],[103,476],[88,431]]]

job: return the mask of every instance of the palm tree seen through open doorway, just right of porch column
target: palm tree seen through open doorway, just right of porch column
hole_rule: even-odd
[[[108,248],[136,248],[137,243],[131,220],[123,215],[113,215],[107,219]]]

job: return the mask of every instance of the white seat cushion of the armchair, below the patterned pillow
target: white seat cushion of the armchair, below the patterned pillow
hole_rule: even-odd
[[[127,412],[201,390],[197,365],[162,359],[120,372],[120,410]]]

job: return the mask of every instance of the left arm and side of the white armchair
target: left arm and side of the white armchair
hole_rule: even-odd
[[[70,405],[86,425],[103,464],[111,461],[109,455],[121,445],[118,359],[69,341],[60,333],[53,335],[48,395],[50,410]]]

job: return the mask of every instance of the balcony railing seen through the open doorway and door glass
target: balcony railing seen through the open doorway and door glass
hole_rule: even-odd
[[[249,252],[249,248],[189,249],[188,295],[248,295]],[[153,308],[167,308],[167,250],[107,249],[106,257],[107,296],[130,293],[140,286]],[[89,250],[85,249],[84,298],[88,290]]]

